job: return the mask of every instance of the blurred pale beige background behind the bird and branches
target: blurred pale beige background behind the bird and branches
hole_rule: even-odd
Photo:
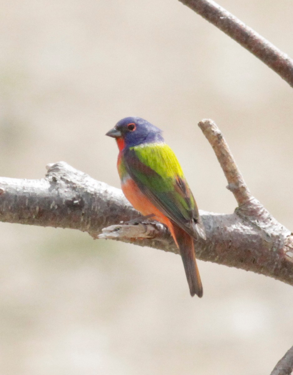
[[[293,2],[220,3],[293,56]],[[199,208],[236,202],[197,127],[223,131],[256,198],[293,229],[293,90],[177,0],[3,0],[0,175],[64,160],[120,187],[105,133],[164,130]],[[0,223],[0,374],[269,374],[293,344],[293,288],[73,230]]]

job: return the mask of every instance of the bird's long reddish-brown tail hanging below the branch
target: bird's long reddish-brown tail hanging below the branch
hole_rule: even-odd
[[[193,238],[177,225],[174,225],[174,234],[182,257],[191,297],[194,294],[202,297],[202,282],[200,281],[199,270],[196,264]]]

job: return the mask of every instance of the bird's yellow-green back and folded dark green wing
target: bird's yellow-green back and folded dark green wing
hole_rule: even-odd
[[[181,166],[164,143],[143,144],[124,151],[124,163],[139,189],[190,236],[205,239],[205,228]]]

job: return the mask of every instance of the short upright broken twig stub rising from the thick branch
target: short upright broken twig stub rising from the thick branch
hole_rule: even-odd
[[[227,189],[232,191],[239,206],[251,200],[252,195],[245,184],[244,178],[235,163],[233,155],[220,129],[212,120],[204,119],[198,123],[203,134],[211,144],[218,161],[227,178]]]

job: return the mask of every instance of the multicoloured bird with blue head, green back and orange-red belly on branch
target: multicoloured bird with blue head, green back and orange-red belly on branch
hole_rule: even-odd
[[[169,229],[180,251],[190,294],[202,297],[194,240],[206,239],[196,201],[162,130],[141,117],[118,121],[106,135],[115,138],[124,195],[133,207]]]

